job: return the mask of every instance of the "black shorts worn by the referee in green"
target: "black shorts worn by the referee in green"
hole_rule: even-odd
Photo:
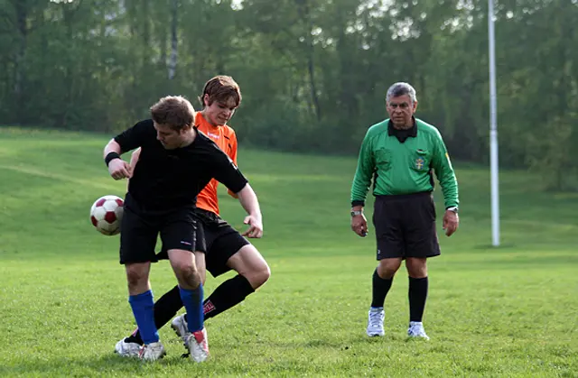
[[[378,260],[440,254],[430,192],[376,196],[373,225],[378,239]]]

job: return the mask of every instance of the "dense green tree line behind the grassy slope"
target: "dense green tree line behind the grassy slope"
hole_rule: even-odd
[[[576,189],[578,0],[497,0],[500,164]],[[2,124],[114,132],[231,75],[239,143],[358,152],[396,81],[454,160],[489,152],[487,0],[0,0]]]

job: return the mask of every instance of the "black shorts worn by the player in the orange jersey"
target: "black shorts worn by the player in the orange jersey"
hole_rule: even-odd
[[[213,212],[197,208],[195,217],[197,219],[195,251],[205,254],[207,271],[213,277],[230,271],[227,266],[228,259],[248,245],[248,240]],[[166,250],[163,244],[161,252],[157,254],[158,260],[168,258]]]

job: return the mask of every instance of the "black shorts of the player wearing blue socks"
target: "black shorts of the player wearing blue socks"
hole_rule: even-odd
[[[195,249],[195,228],[194,207],[150,212],[128,199],[120,225],[120,263],[156,262],[154,247],[159,234],[167,250],[192,252]]]

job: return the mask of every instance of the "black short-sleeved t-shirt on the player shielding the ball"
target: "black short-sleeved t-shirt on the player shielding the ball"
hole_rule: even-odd
[[[148,119],[118,134],[115,141],[121,153],[141,147],[126,197],[143,210],[194,206],[200,190],[213,178],[235,193],[247,185],[227,154],[198,130],[190,145],[166,150],[156,139],[153,120]]]

